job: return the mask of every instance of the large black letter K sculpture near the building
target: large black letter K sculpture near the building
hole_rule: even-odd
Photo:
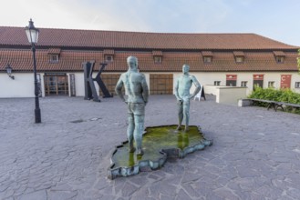
[[[101,67],[99,68],[98,74],[95,78],[93,78],[93,69],[94,69],[95,61],[84,62],[82,63],[84,69],[84,78],[85,78],[85,100],[93,99],[95,102],[100,102],[98,98],[96,87],[94,85],[94,81],[96,81],[103,93],[103,98],[112,97],[113,95],[109,94],[109,90],[106,85],[103,83],[100,75],[103,72],[106,63],[100,63]]]

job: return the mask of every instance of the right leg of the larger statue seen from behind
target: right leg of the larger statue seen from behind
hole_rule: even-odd
[[[136,143],[136,147],[138,149],[137,155],[143,155],[144,152],[142,150],[142,134],[144,132],[144,115],[134,115],[134,123],[135,123],[135,129],[134,129],[134,140]]]

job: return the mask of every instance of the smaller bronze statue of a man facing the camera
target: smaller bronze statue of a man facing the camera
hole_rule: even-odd
[[[184,131],[189,130],[189,120],[190,120],[190,100],[201,90],[201,85],[199,84],[197,78],[194,75],[189,74],[190,66],[183,65],[182,72],[183,75],[179,76],[175,85],[175,96],[177,98],[178,105],[178,127],[176,130],[181,129],[181,123],[183,117],[185,119]],[[195,85],[196,89],[194,93],[190,94],[191,85]]]

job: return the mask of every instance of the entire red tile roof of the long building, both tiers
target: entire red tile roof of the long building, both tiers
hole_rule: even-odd
[[[1,48],[2,47],[2,48]],[[127,70],[126,58],[136,55],[144,72],[181,72],[183,64],[191,71],[297,71],[297,46],[285,45],[255,34],[158,34],[117,31],[88,31],[40,28],[36,49],[39,72],[82,71],[82,63],[96,65],[113,55],[109,72]],[[48,54],[59,54],[58,63],[50,63]],[[155,64],[153,55],[163,55]],[[212,55],[204,64],[202,55]],[[243,55],[236,63],[234,55]],[[284,55],[278,64],[274,55]],[[32,71],[33,60],[24,28],[0,26],[0,71],[10,64],[14,71]]]

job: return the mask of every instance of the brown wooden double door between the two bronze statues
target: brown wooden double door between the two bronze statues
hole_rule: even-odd
[[[173,75],[150,75],[150,95],[172,95]]]

